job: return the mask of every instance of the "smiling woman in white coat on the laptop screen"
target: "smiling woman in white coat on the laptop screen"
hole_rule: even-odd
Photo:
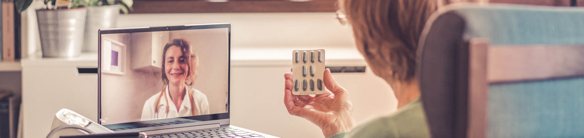
[[[191,87],[197,78],[199,59],[190,50],[189,43],[172,40],[162,50],[162,61],[165,87],[146,100],[141,120],[209,114],[207,96]]]

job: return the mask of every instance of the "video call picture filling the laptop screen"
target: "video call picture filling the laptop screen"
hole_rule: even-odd
[[[102,34],[102,125],[228,112],[229,30]]]

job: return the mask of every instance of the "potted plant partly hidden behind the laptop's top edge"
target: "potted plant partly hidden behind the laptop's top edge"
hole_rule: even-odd
[[[98,30],[115,28],[120,10],[128,13],[132,0],[88,0],[85,20],[84,52],[98,51]]]

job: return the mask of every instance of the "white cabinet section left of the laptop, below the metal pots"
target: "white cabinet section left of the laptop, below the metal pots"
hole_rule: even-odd
[[[78,73],[78,68],[97,68],[97,59],[97,54],[22,59],[23,137],[46,137],[61,108],[97,120],[98,75]]]

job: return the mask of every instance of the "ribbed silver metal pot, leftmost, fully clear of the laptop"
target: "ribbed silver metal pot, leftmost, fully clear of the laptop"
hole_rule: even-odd
[[[87,9],[36,10],[43,57],[81,55]]]

